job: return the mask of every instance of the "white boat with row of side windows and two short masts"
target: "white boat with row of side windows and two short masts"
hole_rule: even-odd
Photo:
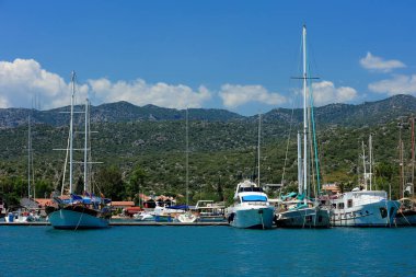
[[[371,136],[369,148],[371,149]],[[353,192],[340,194],[331,200],[333,208],[331,222],[335,227],[391,227],[394,224],[400,203],[389,200],[388,193],[384,191],[371,191],[372,162],[370,162],[370,171],[367,174],[363,148],[362,151],[365,185],[354,188]],[[371,150],[369,155],[371,157]],[[371,160],[372,158],[370,158]],[[368,180],[370,181],[369,191]]]

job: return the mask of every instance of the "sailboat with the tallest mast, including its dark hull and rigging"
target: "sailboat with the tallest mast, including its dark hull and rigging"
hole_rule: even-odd
[[[308,86],[307,80],[311,79],[307,71],[307,26],[303,25],[302,30],[302,49],[303,49],[303,157],[301,154],[301,137],[298,134],[298,182],[299,192],[293,196],[297,196],[290,200],[284,200],[280,203],[276,210],[276,224],[278,227],[288,228],[328,228],[330,227],[330,213],[319,205],[316,200],[310,200],[308,195],[309,184],[311,183],[310,166],[309,164],[309,143],[308,136],[311,130],[308,120]],[[310,115],[313,119],[313,115]],[[314,131],[314,130],[313,130]],[[316,152],[315,152],[316,155]],[[302,166],[303,165],[303,166]],[[319,169],[316,166],[316,171]],[[319,175],[317,175],[319,176]]]

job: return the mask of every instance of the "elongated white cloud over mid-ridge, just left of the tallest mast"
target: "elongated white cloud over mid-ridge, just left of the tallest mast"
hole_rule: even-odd
[[[226,107],[238,107],[249,102],[277,105],[286,102],[286,97],[268,92],[262,85],[223,84],[219,92]]]

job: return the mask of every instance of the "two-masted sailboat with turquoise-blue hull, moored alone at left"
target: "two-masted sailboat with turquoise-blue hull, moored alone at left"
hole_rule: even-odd
[[[85,141],[84,141],[84,193],[85,196],[79,196],[73,193],[73,102],[76,92],[76,73],[72,72],[72,93],[69,128],[69,198],[54,197],[55,205],[47,206],[46,212],[50,224],[56,229],[99,229],[107,228],[111,218],[111,211],[106,207],[106,199],[96,197],[91,193],[88,183],[88,135],[89,126],[89,101],[85,102]],[[65,166],[66,168],[66,166]],[[63,173],[65,174],[65,173]],[[61,194],[63,195],[63,182]],[[63,198],[63,199],[62,199]]]

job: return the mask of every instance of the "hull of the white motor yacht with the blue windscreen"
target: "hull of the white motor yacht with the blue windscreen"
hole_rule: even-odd
[[[275,209],[271,206],[234,207],[229,210],[230,226],[246,229],[270,229]]]

